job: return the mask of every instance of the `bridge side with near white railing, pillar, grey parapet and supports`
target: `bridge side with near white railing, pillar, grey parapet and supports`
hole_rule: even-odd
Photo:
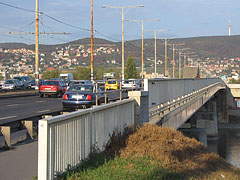
[[[199,139],[217,135],[227,122],[226,84],[221,79],[145,79],[143,91],[128,99],[39,121],[38,179],[54,179],[100,150],[114,131],[144,123],[197,132]]]

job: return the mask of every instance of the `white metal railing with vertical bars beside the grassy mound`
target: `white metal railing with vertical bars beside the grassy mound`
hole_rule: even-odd
[[[103,150],[114,131],[134,125],[134,102],[131,98],[40,120],[38,179],[54,179],[68,165],[76,166],[93,146]]]

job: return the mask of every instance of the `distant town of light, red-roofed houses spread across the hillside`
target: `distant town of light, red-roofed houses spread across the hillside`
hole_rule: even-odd
[[[112,66],[121,66],[121,60],[113,58],[113,55],[121,54],[121,50],[113,46],[99,46],[94,48],[94,57],[105,55],[109,56],[109,59],[102,63],[111,64]],[[59,68],[60,70],[73,70],[77,66],[89,66],[90,64],[91,49],[87,45],[78,46],[66,46],[56,47],[56,49],[50,53],[39,54],[39,67],[40,73],[46,70],[53,70]],[[20,49],[8,49],[0,48],[0,76],[6,77],[6,74],[12,76],[32,75],[34,76],[34,64],[35,55],[33,50],[20,48]],[[116,57],[116,56],[115,56]],[[154,66],[154,59],[151,57],[145,57],[146,63],[150,66]],[[172,67],[173,60],[168,60],[169,67]],[[176,59],[176,71],[178,71],[178,60]],[[186,57],[183,58],[185,66],[195,66],[200,68],[200,72],[203,77],[222,77],[222,78],[234,78],[239,79],[239,66],[240,57],[237,58],[196,58]],[[137,63],[139,66],[141,62]],[[163,59],[157,60],[158,66],[164,64]],[[182,65],[184,66],[184,65]],[[147,72],[150,73],[150,72]]]

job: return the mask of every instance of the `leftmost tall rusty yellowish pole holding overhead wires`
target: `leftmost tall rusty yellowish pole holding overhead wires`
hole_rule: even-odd
[[[39,14],[38,0],[36,0],[36,18],[35,18],[35,80],[37,89],[39,85]]]

